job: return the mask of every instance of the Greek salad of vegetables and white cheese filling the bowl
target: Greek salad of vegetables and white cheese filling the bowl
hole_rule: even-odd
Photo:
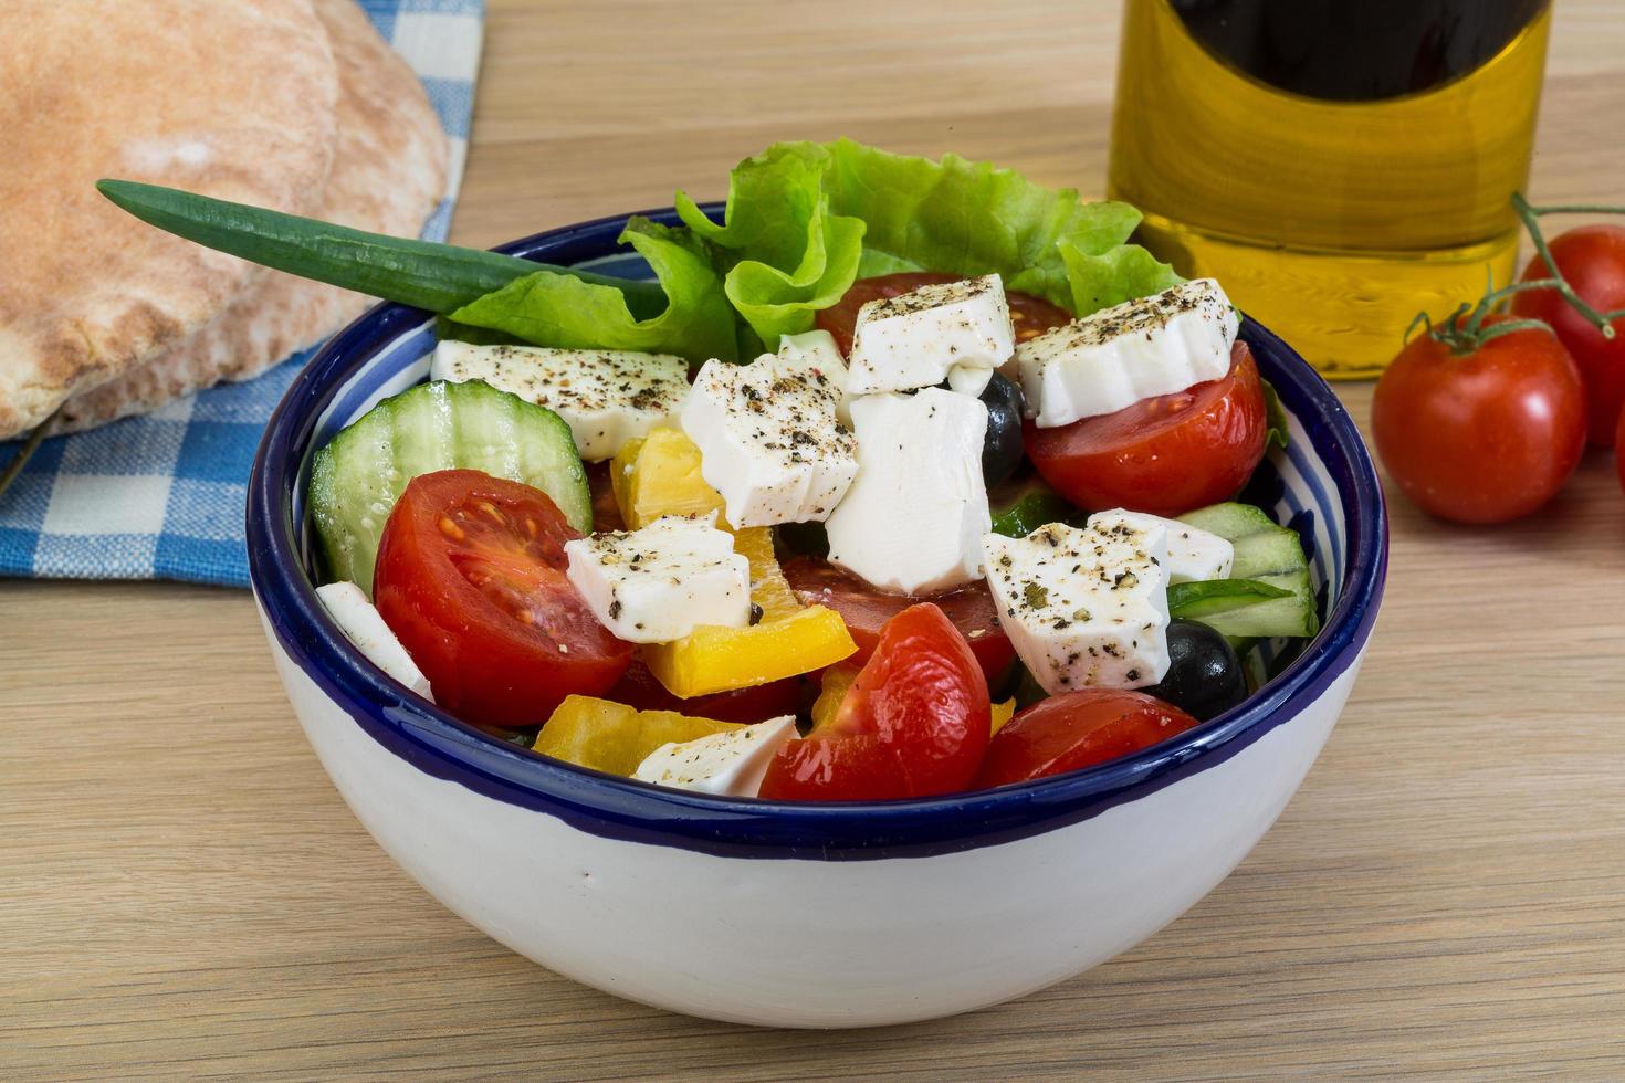
[[[656,786],[887,800],[1146,749],[1316,633],[1298,536],[1235,502],[1285,440],[1240,317],[1131,208],[842,141],[678,209],[626,234],[658,310],[515,279],[317,451],[317,593],[403,695]]]

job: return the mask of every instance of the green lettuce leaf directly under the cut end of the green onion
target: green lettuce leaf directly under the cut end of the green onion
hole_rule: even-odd
[[[739,359],[736,318],[705,245],[686,229],[634,218],[621,234],[666,291],[666,310],[637,320],[626,297],[569,274],[538,271],[479,297],[450,320],[536,346],[640,349],[689,360]]]

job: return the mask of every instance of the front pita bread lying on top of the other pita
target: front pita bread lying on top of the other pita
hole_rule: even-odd
[[[0,438],[192,334],[258,276],[94,182],[309,213],[338,99],[309,0],[6,0],[3,23]]]

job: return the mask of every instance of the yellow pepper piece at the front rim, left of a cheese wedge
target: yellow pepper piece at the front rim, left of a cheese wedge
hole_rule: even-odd
[[[531,752],[630,778],[637,765],[663,744],[697,740],[730,729],[741,726],[678,711],[639,711],[611,700],[572,695],[554,708]]]

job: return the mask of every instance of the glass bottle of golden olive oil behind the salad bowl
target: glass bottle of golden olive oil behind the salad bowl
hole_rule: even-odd
[[[1329,377],[1518,255],[1549,0],[1126,0],[1110,193]]]

